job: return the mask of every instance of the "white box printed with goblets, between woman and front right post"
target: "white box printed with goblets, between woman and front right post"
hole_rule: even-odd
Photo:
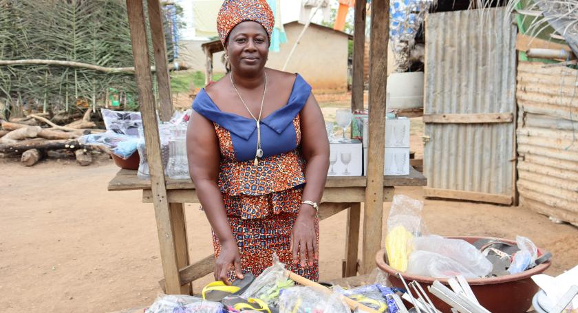
[[[352,143],[330,143],[328,176],[361,176],[363,171],[363,145],[359,140]]]

